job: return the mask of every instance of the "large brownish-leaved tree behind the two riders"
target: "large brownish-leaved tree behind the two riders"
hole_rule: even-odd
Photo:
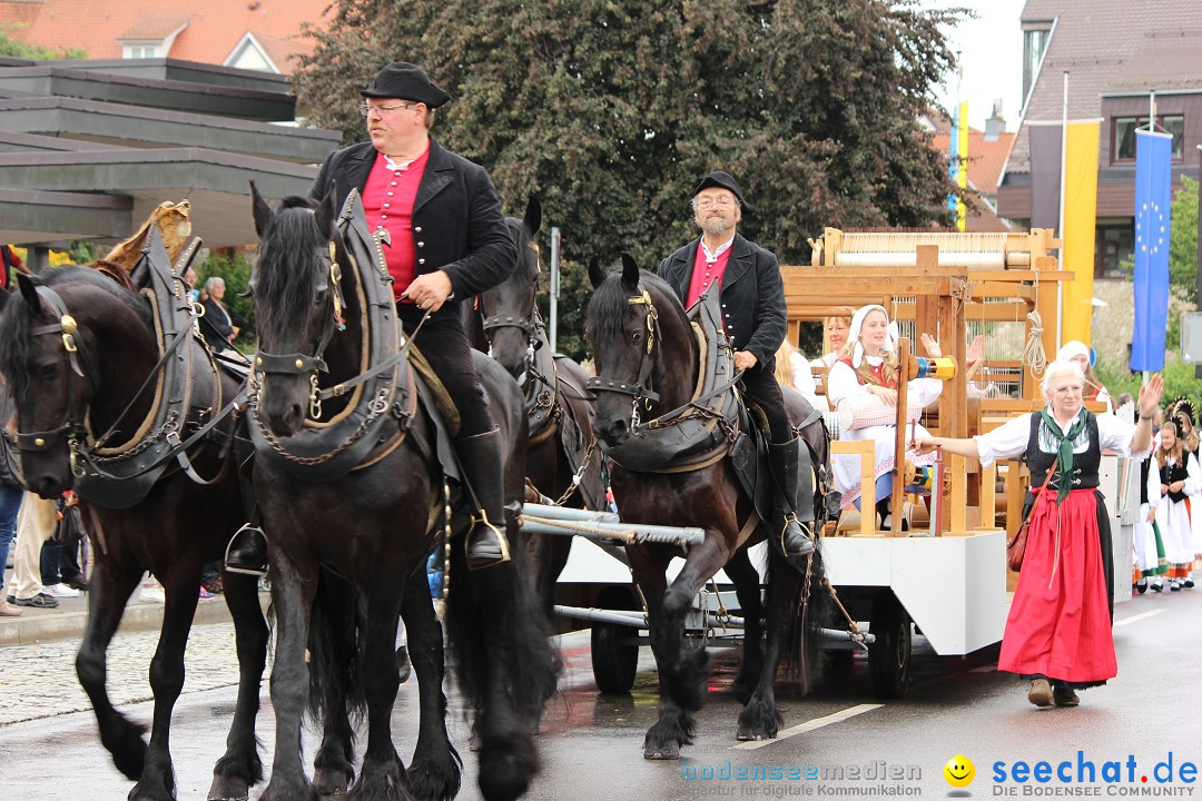
[[[311,122],[365,138],[358,90],[389,60],[454,101],[435,136],[488,167],[506,211],[563,229],[560,347],[584,345],[585,264],[654,269],[696,235],[689,198],[739,180],[743,232],[783,263],[823,226],[946,217],[946,159],[920,114],[958,12],[914,0],[337,0],[298,89]],[[571,292],[572,294],[567,294]]]

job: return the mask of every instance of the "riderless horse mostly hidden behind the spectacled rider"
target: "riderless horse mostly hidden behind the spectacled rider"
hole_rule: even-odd
[[[542,205],[531,197],[522,219],[506,217],[518,263],[510,277],[465,305],[472,345],[501,363],[522,388],[526,419],[529,500],[540,496],[573,508],[605,503],[601,454],[593,436],[588,373],[567,357],[553,354],[538,313],[538,245]],[[567,563],[570,537],[535,536],[522,542],[531,580],[551,610],[555,579]]]

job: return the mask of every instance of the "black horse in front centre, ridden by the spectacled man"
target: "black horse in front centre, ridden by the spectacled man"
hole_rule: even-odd
[[[309,459],[290,461],[287,455],[292,443],[325,442],[322,431],[338,430],[347,416],[357,414],[359,390],[385,375],[353,383],[364,377],[364,365],[373,358],[397,353],[397,317],[387,276],[380,273],[374,246],[367,257],[359,250],[361,258],[352,258],[333,193],[317,204],[285,198],[274,211],[257,190],[252,195],[261,241],[251,292],[260,331],[256,361],[262,359],[262,372],[255,378],[250,425],[258,437],[255,490],[269,542],[279,621],[272,673],[275,759],[262,797],[317,797],[299,754],[310,682],[327,721],[345,721],[335,709],[339,704],[365,703],[368,745],[349,797],[409,799],[411,793],[452,797],[458,766],[444,724],[441,629],[429,611],[426,582],[417,576],[445,527],[453,536],[466,518],[446,519],[450,500],[442,471],[427,450],[429,426],[421,413],[411,416],[406,408],[409,389],[389,378],[392,383],[381,387],[379,404],[368,414],[386,414],[391,428],[373,429],[373,452],[356,460],[353,470],[323,476],[325,480],[308,478],[310,468],[322,470],[341,458],[340,444]],[[349,226],[357,219],[351,216]],[[364,229],[356,241],[362,244],[365,237]],[[386,295],[380,294],[381,282]],[[416,342],[419,346],[419,334]],[[293,361],[297,366],[288,366]],[[319,361],[325,367],[320,376]],[[395,361],[380,364],[395,369]],[[519,500],[525,437],[520,395],[499,365],[481,355],[477,366],[493,417],[512,443],[507,464],[514,470],[506,482],[511,496]],[[355,389],[327,393],[327,402],[319,407],[320,393],[339,384]],[[407,436],[400,436],[404,431]],[[516,520],[507,522],[512,537]],[[469,572],[462,539],[454,538],[452,545],[447,620],[459,683],[476,715],[480,787],[487,799],[514,799],[537,771],[526,722],[537,718],[554,691],[557,663],[546,620],[516,566]],[[331,594],[331,572],[346,579],[349,610],[344,603],[331,614],[322,611],[322,600]],[[347,593],[341,593],[344,600]],[[398,686],[393,636],[401,610],[422,694],[421,734],[407,775],[391,736]],[[310,623],[319,626],[320,616],[335,628],[314,636],[332,647],[314,653],[309,664],[307,634]],[[352,775],[349,736],[349,729],[332,730],[327,723],[317,754],[321,775]]]

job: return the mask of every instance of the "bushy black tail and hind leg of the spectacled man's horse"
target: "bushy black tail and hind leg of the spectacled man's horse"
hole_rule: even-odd
[[[469,570],[456,545],[447,629],[459,687],[475,712],[480,787],[484,797],[516,799],[538,772],[532,734],[561,664],[538,598],[517,569],[522,560]]]

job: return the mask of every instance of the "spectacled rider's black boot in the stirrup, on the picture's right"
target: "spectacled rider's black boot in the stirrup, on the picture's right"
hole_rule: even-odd
[[[496,429],[454,442],[464,479],[480,503],[468,532],[468,567],[472,570],[510,561],[505,540],[505,459]]]

